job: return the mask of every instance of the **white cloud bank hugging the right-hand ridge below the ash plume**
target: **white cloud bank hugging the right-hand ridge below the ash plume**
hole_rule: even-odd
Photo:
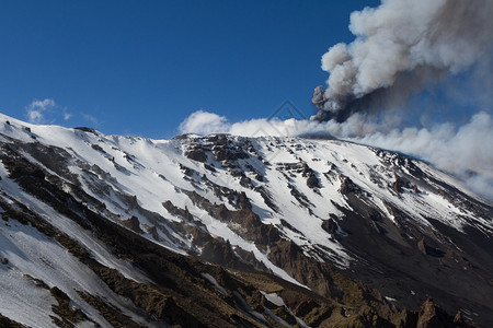
[[[429,129],[393,129],[346,138],[421,157],[493,200],[493,118],[488,113],[475,114],[460,127],[439,124]]]

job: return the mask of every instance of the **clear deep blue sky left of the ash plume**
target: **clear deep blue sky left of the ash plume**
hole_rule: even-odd
[[[149,138],[198,109],[238,121],[290,99],[309,117],[320,57],[378,3],[0,1],[0,112]]]

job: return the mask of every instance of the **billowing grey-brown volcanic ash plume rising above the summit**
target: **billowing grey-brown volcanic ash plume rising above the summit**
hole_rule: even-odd
[[[318,86],[317,119],[395,108],[449,74],[491,54],[492,0],[382,0],[351,15],[356,39],[322,57],[329,87]]]

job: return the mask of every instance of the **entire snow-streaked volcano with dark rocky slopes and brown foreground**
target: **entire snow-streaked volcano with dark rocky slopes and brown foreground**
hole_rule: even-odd
[[[493,325],[493,204],[416,159],[1,115],[0,160],[4,326]]]

